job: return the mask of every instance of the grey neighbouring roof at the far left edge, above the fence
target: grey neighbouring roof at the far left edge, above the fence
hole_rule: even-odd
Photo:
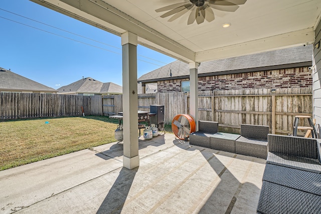
[[[0,68],[0,91],[57,92],[57,90]]]

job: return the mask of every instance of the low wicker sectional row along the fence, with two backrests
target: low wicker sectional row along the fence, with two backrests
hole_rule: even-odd
[[[241,124],[241,135],[218,132],[218,122],[199,121],[190,144],[266,159],[268,126]]]

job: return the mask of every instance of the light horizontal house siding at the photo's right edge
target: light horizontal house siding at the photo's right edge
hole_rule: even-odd
[[[315,42],[321,40],[321,22],[315,29]],[[321,123],[321,47],[313,49],[313,118],[316,119],[316,130],[318,138],[320,138],[320,123]]]

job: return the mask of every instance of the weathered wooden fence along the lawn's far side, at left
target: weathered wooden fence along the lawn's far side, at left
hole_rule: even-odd
[[[101,99],[100,99],[101,100]],[[62,94],[0,93],[0,120],[91,114],[91,97]]]

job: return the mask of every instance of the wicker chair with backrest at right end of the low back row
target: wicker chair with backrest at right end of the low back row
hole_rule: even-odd
[[[241,124],[241,136],[235,141],[235,152],[266,159],[268,133],[268,126]]]

